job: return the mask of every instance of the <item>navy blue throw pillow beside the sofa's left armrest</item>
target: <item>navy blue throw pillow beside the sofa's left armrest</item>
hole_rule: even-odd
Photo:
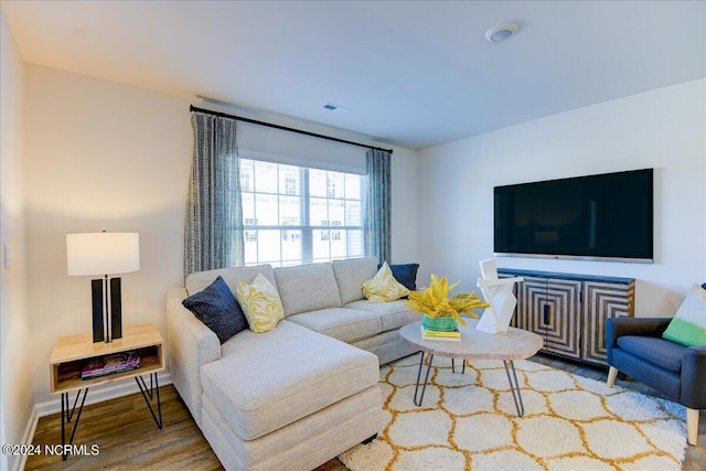
[[[203,291],[184,299],[182,304],[215,332],[221,344],[248,328],[238,300],[222,276]]]

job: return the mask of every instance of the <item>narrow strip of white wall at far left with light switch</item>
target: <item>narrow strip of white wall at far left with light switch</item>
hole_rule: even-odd
[[[6,254],[0,256],[0,441],[22,443],[33,407],[24,242],[24,65],[1,10],[0,47],[0,240],[12,259],[6,268]],[[19,460],[2,453],[0,469],[15,469]]]

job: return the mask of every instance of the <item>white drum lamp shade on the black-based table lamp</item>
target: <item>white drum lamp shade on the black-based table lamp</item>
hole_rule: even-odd
[[[140,269],[138,233],[66,234],[69,276],[116,275]]]

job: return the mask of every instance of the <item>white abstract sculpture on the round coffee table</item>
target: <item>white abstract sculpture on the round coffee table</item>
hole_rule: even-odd
[[[475,329],[492,334],[506,332],[512,314],[515,312],[515,306],[517,306],[517,299],[515,299],[512,288],[516,282],[524,281],[524,278],[498,278],[498,266],[494,258],[481,260],[480,266],[483,278],[478,279],[478,287],[490,307],[483,311]]]

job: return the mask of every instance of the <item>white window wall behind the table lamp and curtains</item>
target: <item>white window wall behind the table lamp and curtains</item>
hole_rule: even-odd
[[[58,404],[49,394],[53,344],[90,330],[90,277],[66,275],[66,234],[140,233],[140,271],[121,277],[122,322],[153,322],[165,335],[167,290],[183,285],[192,100],[34,65],[25,86],[32,387],[38,404]],[[413,260],[417,153],[394,150],[394,251]]]

